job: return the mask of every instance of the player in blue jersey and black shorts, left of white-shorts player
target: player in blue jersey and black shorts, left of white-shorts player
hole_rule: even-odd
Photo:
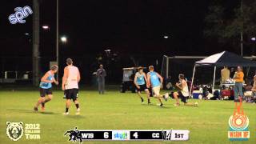
[[[141,98],[142,102],[144,102],[144,99],[142,98],[141,92],[145,91],[147,96],[147,104],[150,104],[150,91],[146,87],[147,83],[146,74],[143,72],[143,68],[140,66],[138,67],[138,72],[134,77],[134,85],[137,88],[138,97]]]

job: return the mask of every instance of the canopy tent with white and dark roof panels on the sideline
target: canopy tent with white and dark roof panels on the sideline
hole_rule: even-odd
[[[212,91],[214,92],[215,75],[217,66],[254,66],[256,67],[256,62],[250,59],[242,58],[237,54],[230,53],[228,51],[222,51],[218,54],[210,55],[194,64],[192,82],[190,87],[190,94],[192,94],[192,86],[194,83],[194,73],[197,66],[214,66],[214,81],[212,86]]]

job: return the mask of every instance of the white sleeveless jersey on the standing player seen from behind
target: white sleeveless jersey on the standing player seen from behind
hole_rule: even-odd
[[[76,66],[66,66],[69,73],[66,80],[65,89],[78,89],[78,74],[79,70]]]

